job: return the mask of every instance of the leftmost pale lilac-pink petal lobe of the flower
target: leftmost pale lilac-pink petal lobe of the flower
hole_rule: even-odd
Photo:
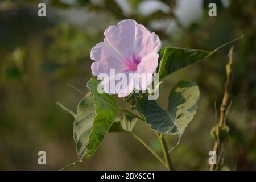
[[[110,68],[115,69],[115,72],[118,73],[127,67],[122,61],[122,57],[105,42],[100,42],[92,48],[90,59],[96,61],[91,65],[92,75],[94,76],[100,73],[110,74]]]

